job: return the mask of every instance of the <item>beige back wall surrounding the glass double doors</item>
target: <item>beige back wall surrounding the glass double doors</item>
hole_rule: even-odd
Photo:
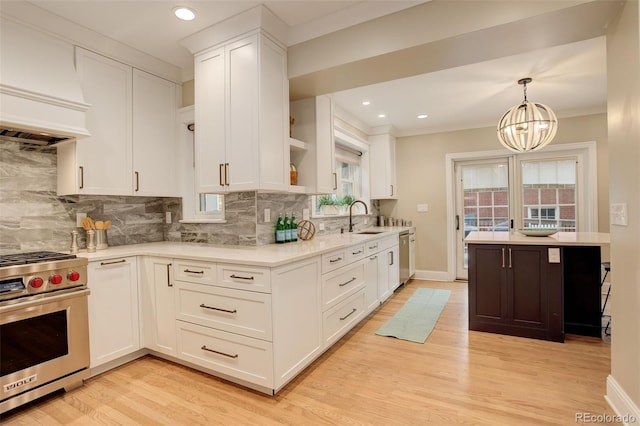
[[[606,232],[609,228],[606,114],[560,119],[552,143],[589,141],[597,143],[598,227]],[[416,225],[418,270],[447,270],[446,154],[501,148],[494,127],[397,139],[398,200],[382,201],[380,210],[385,216],[410,219]],[[429,211],[417,213],[419,203],[428,204]]]

